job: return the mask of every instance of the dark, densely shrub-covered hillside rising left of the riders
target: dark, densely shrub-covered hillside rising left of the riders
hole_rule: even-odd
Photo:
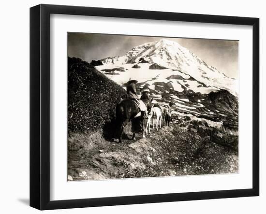
[[[79,58],[68,58],[68,130],[103,128],[125,90]]]

